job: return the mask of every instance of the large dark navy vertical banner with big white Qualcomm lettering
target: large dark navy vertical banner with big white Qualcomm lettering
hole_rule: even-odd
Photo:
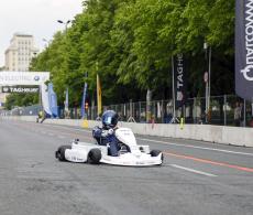
[[[235,9],[235,92],[253,98],[253,0],[237,0]]]

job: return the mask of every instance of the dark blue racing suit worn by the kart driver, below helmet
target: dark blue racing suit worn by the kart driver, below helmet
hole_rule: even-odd
[[[97,140],[98,144],[100,146],[108,146],[109,144],[109,155],[118,157],[119,155],[119,140],[117,139],[113,129],[102,129],[96,126],[92,129],[92,136]]]

